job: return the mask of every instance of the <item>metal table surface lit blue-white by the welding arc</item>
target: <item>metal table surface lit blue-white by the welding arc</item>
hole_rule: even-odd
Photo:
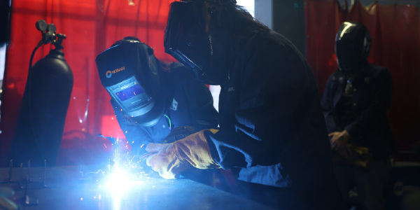
[[[16,191],[15,197],[38,200],[36,206],[22,209],[271,209],[243,197],[226,193],[188,179],[162,179],[146,169],[135,181],[117,177],[110,183],[102,167],[48,167],[46,180],[56,188],[31,188]],[[24,174],[27,174],[24,168]],[[25,173],[26,172],[26,173]],[[20,174],[20,169],[13,174]],[[8,168],[0,169],[0,178],[8,177]],[[17,177],[18,175],[13,175]],[[44,167],[31,168],[28,179],[45,176]]]

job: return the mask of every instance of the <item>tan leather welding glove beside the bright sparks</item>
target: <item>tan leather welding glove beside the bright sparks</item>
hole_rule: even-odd
[[[174,141],[172,144],[148,144],[146,151],[155,153],[147,158],[147,165],[165,179],[178,179],[190,167],[197,169],[221,168],[211,157],[207,138],[218,130],[202,130]]]

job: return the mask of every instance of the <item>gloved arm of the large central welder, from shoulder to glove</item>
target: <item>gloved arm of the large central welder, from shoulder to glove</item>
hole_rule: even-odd
[[[238,58],[241,72],[230,75],[237,92],[226,97],[239,97],[239,105],[225,102],[235,116],[221,120],[232,117],[232,123],[221,121],[218,132],[202,130],[173,144],[148,144],[146,150],[155,154],[147,164],[161,176],[174,179],[188,166],[276,165],[290,149],[304,154],[328,146],[321,142],[325,121],[315,78],[302,55],[288,43],[253,44]]]

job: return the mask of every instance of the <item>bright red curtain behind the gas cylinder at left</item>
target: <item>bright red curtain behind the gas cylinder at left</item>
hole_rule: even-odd
[[[111,97],[99,80],[96,56],[124,36],[137,36],[165,61],[163,35],[169,4],[174,0],[14,0],[11,42],[6,58],[1,123],[0,167],[6,166],[20,103],[25,90],[29,57],[41,40],[37,20],[54,23],[66,34],[65,59],[74,75],[73,92],[66,116],[59,165],[94,164],[112,151],[111,142],[97,134],[123,139]],[[34,63],[48,55],[50,45],[39,48]],[[127,146],[129,147],[129,146]]]

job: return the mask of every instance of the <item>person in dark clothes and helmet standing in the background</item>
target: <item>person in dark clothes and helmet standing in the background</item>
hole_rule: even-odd
[[[356,185],[363,209],[377,210],[384,209],[382,193],[395,146],[386,118],[391,75],[367,62],[370,43],[369,31],[360,22],[340,25],[335,38],[338,69],[325,86],[323,113],[331,148],[344,160],[335,165],[344,200],[348,202]]]

